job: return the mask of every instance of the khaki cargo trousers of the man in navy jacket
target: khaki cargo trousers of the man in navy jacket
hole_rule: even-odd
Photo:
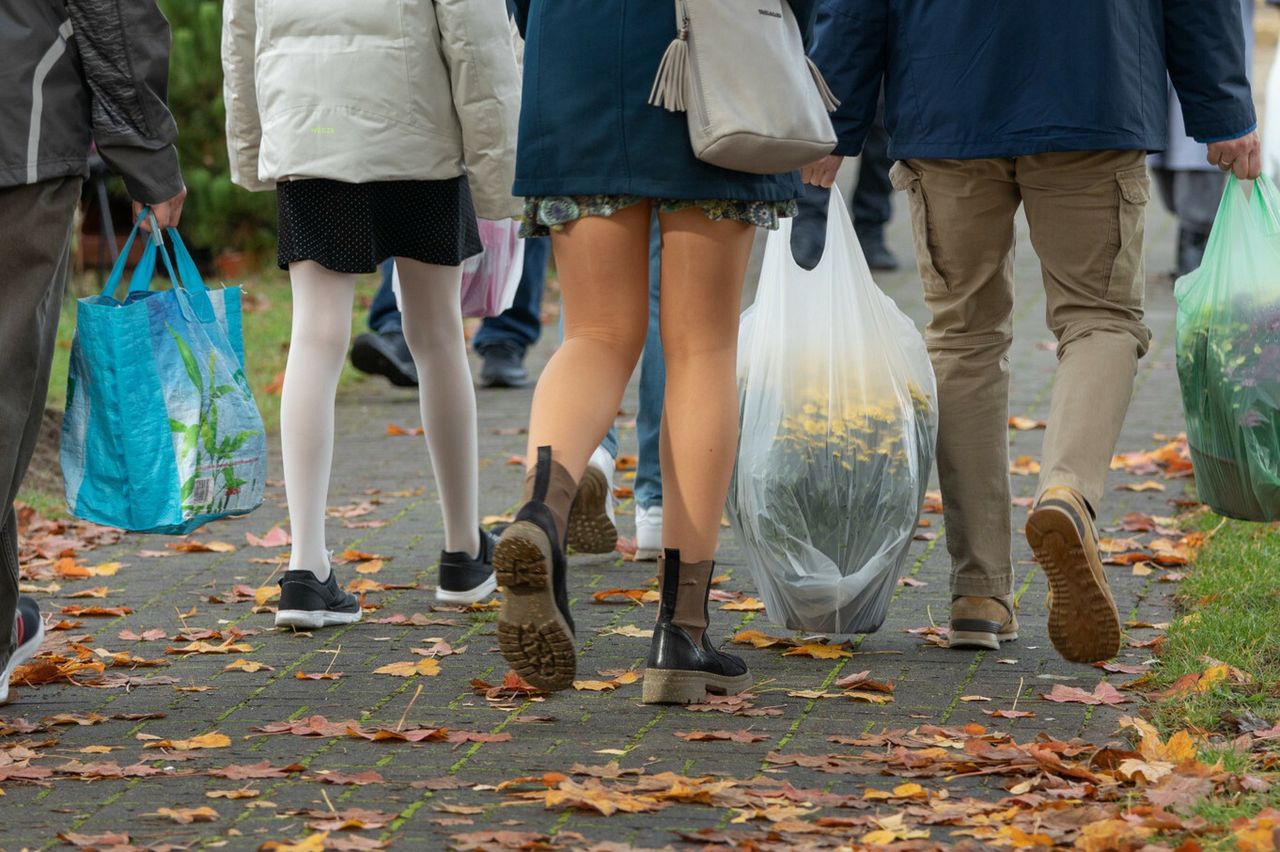
[[[938,477],[951,594],[1012,591],[1009,347],[1014,216],[1041,260],[1057,371],[1038,493],[1065,485],[1094,509],[1124,423],[1143,325],[1146,154],[1084,151],[988,160],[906,160],[938,379]]]

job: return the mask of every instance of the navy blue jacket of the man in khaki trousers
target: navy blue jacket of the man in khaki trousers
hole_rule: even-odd
[[[819,0],[809,52],[846,156],[882,82],[899,160],[1158,151],[1169,78],[1201,142],[1257,127],[1238,0]]]

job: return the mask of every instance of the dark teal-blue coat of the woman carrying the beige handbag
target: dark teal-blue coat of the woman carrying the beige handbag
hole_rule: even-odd
[[[790,0],[808,27],[815,0]],[[649,105],[676,36],[672,0],[515,0],[525,35],[517,196],[785,201],[795,173],[756,175],[698,160],[684,113]],[[742,46],[749,55],[750,45]]]

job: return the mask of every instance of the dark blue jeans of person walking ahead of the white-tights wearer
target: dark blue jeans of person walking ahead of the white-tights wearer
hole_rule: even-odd
[[[511,343],[524,353],[538,343],[538,335],[543,329],[543,288],[547,283],[549,255],[550,239],[547,237],[525,241],[525,269],[520,275],[516,301],[499,316],[486,317],[480,324],[480,330],[472,340],[476,352],[484,354],[486,347]],[[378,334],[402,330],[396,293],[392,290],[393,269],[393,261],[383,264],[383,284],[378,288],[374,303],[369,306],[369,327]]]

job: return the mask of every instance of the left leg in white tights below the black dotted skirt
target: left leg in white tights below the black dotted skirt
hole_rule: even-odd
[[[293,553],[289,571],[329,578],[325,505],[333,467],[333,421],[338,376],[351,344],[356,276],[314,261],[289,265],[293,330],[280,394],[284,493],[289,501]]]

